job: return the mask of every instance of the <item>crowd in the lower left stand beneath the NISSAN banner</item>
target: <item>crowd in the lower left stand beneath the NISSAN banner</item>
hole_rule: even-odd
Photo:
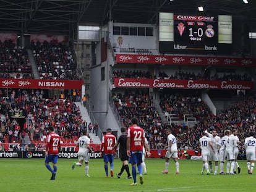
[[[11,98],[5,96],[9,94],[6,90],[0,93],[0,140],[7,136],[9,143],[23,142],[20,134],[24,131],[32,143],[43,141],[49,126],[53,126],[62,138],[77,138],[87,128],[79,107],[71,99],[60,99],[59,96],[45,99],[42,90],[30,93],[27,90],[11,90]],[[15,130],[17,135],[14,135]]]

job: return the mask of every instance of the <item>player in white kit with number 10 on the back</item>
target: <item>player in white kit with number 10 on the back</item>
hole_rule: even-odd
[[[199,145],[202,150],[202,159],[203,159],[203,168],[201,174],[203,174],[204,170],[207,170],[207,175],[210,175],[209,171],[209,157],[210,157],[210,151],[215,151],[213,148],[213,144],[211,143],[211,139],[207,137],[208,133],[207,131],[203,131],[202,138],[199,139]]]

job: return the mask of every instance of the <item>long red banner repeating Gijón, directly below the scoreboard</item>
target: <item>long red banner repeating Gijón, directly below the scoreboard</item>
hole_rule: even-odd
[[[256,67],[255,58],[210,57],[210,56],[202,57],[202,56],[116,54],[116,63]]]

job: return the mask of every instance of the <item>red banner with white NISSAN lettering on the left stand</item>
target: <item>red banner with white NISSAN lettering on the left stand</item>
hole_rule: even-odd
[[[80,90],[82,85],[82,80],[0,78],[0,88]]]

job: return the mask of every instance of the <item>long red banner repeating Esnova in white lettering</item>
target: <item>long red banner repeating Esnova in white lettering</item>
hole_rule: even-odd
[[[252,90],[253,81],[174,80],[154,78],[114,78],[114,87]]]

